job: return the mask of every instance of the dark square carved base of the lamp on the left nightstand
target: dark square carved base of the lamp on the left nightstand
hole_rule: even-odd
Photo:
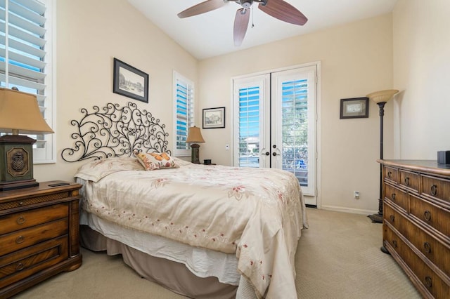
[[[34,142],[26,135],[0,137],[0,191],[39,185],[33,178]]]

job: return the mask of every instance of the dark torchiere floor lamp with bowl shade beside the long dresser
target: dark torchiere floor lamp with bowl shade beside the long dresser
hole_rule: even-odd
[[[394,94],[398,93],[396,89],[388,89],[386,91],[375,91],[369,93],[370,98],[380,107],[380,159],[383,160],[383,116],[385,115],[385,104]],[[378,198],[378,214],[368,215],[374,223],[383,223],[383,166],[380,164],[380,197]]]

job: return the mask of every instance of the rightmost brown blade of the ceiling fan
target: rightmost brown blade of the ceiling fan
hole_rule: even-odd
[[[283,0],[267,0],[265,5],[260,3],[258,8],[278,20],[295,25],[304,25],[308,20],[297,8]]]

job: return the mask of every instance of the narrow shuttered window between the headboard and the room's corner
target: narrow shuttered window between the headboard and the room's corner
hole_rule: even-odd
[[[186,138],[188,129],[194,125],[194,84],[177,72],[174,72],[174,101],[174,156],[190,156],[191,150]]]

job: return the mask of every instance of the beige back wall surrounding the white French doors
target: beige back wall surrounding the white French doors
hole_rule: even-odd
[[[205,107],[231,112],[233,76],[315,61],[321,61],[319,202],[322,208],[372,213],[379,197],[378,106],[371,102],[368,119],[340,119],[340,99],[392,88],[391,14],[200,61],[198,115]],[[385,157],[392,156],[391,105],[385,108]],[[202,131],[200,159],[231,164],[225,150],[231,143],[230,113],[226,124]]]

